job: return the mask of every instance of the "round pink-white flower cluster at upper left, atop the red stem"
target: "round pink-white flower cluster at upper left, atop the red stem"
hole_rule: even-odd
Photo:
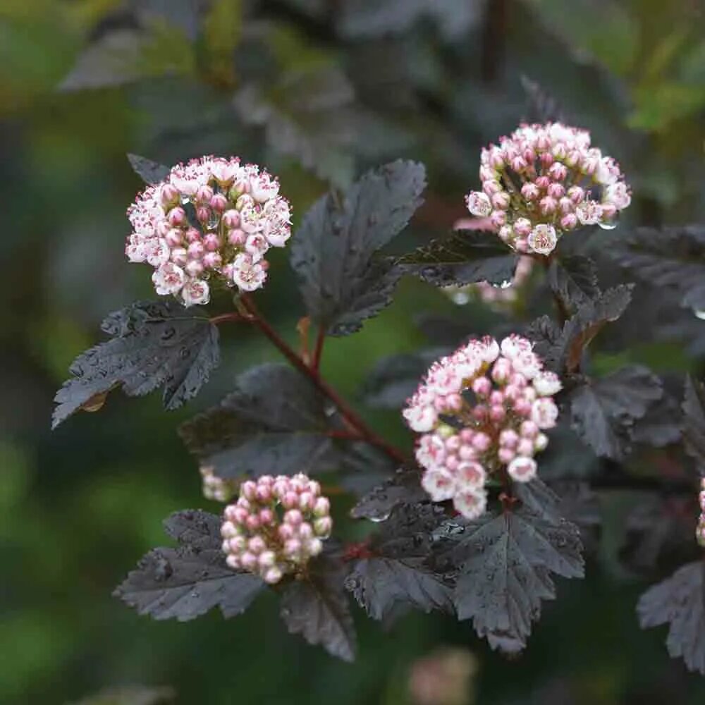
[[[266,251],[291,233],[289,204],[278,192],[276,178],[236,157],[178,164],[128,209],[125,255],[151,264],[157,293],[185,306],[208,302],[213,276],[253,291],[266,279]]]

